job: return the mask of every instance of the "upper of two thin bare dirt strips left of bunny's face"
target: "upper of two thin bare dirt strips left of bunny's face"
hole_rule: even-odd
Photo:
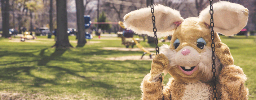
[[[117,47],[103,47],[105,50],[119,50],[119,51],[142,51],[140,48],[117,48]],[[149,51],[155,51],[155,48],[145,48]]]

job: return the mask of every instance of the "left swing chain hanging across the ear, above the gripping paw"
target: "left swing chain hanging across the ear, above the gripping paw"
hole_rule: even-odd
[[[154,16],[154,12],[155,12],[155,10],[154,10],[154,5],[153,5],[153,0],[150,0],[150,8],[151,8],[151,13],[152,13],[152,17],[151,17],[151,19],[152,19],[152,23],[153,23],[153,31],[154,31],[154,39],[155,39],[155,44],[156,44],[156,47],[155,47],[155,51],[156,51],[156,55],[157,54],[159,54],[159,47],[157,46],[157,44],[158,44],[158,39],[157,39],[157,36],[156,36],[156,27],[155,27],[155,16]]]

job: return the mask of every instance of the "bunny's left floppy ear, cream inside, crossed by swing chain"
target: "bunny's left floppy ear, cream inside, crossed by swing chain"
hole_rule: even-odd
[[[169,36],[183,22],[180,12],[163,5],[154,5],[155,26],[158,38]],[[146,7],[129,12],[124,16],[125,28],[137,34],[154,37],[151,8]]]

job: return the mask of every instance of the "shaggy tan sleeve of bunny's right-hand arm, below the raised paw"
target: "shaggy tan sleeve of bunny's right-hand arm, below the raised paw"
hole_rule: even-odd
[[[239,66],[224,66],[219,75],[221,99],[247,100],[248,89],[244,85],[246,79],[246,75]]]

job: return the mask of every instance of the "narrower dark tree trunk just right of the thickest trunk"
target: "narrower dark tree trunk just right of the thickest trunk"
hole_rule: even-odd
[[[86,43],[83,0],[76,0],[76,20],[77,20],[77,28],[78,28],[78,34],[77,34],[78,45],[76,47],[83,47]]]

